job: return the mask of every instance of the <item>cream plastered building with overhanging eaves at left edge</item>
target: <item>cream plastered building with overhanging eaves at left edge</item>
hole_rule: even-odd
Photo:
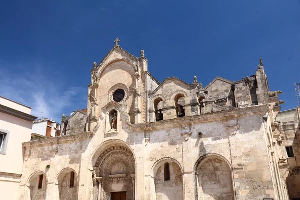
[[[0,96],[0,199],[17,200],[25,149],[30,141],[31,108]]]

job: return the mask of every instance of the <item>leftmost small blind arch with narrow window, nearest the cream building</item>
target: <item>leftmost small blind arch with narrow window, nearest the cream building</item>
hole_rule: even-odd
[[[44,200],[47,191],[47,177],[42,171],[31,175],[28,181],[30,189],[30,200]]]

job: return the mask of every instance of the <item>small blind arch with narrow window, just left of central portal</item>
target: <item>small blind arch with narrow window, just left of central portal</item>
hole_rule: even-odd
[[[59,200],[78,199],[78,176],[71,168],[65,168],[57,175]]]

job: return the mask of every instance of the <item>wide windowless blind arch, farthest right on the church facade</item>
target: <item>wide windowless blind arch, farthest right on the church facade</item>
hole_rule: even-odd
[[[233,200],[232,170],[219,155],[205,155],[196,166],[197,196],[207,200]]]

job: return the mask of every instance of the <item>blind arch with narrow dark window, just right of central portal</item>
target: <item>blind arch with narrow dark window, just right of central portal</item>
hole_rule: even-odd
[[[183,170],[176,159],[170,157],[159,159],[153,164],[150,176],[151,199],[174,199],[174,196],[176,199],[184,199]]]

